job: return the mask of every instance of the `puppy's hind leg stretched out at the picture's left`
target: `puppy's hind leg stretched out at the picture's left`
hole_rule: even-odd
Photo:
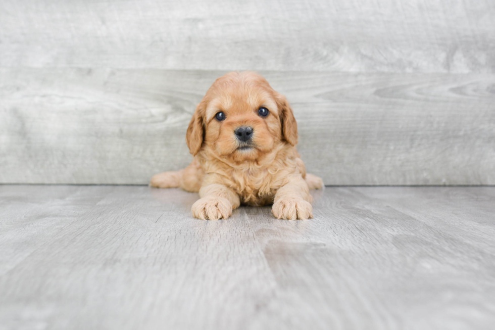
[[[153,175],[150,185],[157,188],[181,187],[188,192],[200,191],[203,182],[203,169],[200,162],[194,158],[192,162],[180,171],[162,172]]]

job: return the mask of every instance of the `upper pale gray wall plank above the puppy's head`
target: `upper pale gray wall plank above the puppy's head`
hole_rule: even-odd
[[[495,72],[492,0],[4,0],[0,66]]]

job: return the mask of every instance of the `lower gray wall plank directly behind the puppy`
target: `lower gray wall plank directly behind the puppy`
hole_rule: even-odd
[[[3,68],[0,182],[146,184],[224,71]],[[495,184],[495,76],[261,72],[325,184]]]

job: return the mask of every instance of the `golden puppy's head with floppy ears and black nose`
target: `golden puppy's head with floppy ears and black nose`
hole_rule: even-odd
[[[236,162],[252,161],[279,144],[298,143],[298,126],[285,97],[254,72],[218,78],[197,106],[186,134],[196,155],[202,146]]]

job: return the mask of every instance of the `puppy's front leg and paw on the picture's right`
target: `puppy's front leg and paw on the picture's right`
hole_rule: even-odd
[[[272,213],[277,219],[306,220],[313,217],[313,197],[301,175],[279,188],[273,200]]]

